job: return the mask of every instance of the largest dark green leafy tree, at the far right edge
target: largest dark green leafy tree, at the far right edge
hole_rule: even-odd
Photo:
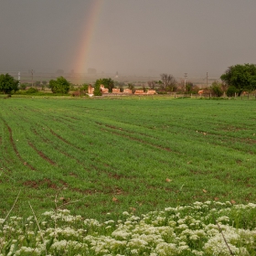
[[[244,64],[230,66],[220,79],[228,86],[237,89],[239,95],[242,91],[256,90],[256,65]]]

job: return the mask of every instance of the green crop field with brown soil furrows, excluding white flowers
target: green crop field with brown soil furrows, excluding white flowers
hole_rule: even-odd
[[[256,101],[0,99],[0,217],[256,201]],[[66,205],[67,204],[67,205]]]

